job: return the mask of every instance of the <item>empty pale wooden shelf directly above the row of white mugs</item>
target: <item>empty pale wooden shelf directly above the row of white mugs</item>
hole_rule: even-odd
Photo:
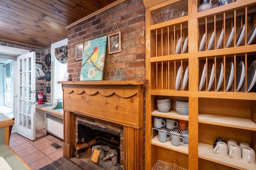
[[[254,123],[251,119],[244,119],[239,117],[208,115],[199,113],[198,122],[256,131],[256,123]]]

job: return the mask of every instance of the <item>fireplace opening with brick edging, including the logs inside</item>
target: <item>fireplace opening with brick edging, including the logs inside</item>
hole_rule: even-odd
[[[122,169],[123,128],[89,118],[76,119],[74,154],[106,170]],[[100,151],[98,162],[92,162],[94,149]]]

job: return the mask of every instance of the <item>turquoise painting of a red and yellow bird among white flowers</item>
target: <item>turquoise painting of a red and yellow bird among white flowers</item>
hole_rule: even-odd
[[[80,81],[102,80],[107,47],[107,36],[84,43]]]

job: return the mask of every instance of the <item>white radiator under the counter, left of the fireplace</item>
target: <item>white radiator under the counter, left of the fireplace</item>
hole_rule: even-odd
[[[52,115],[46,112],[46,130],[48,133],[63,139],[63,117],[59,115]]]

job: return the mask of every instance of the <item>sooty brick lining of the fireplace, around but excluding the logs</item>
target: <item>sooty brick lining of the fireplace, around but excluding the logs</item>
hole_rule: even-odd
[[[118,166],[124,166],[124,130],[123,127],[87,117],[75,117],[76,158],[90,159],[94,145],[108,145],[118,152]]]

